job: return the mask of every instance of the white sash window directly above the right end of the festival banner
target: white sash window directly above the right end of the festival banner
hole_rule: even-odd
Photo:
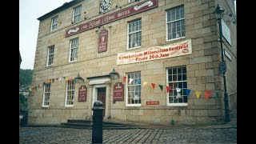
[[[184,6],[166,10],[167,41],[185,37]]]

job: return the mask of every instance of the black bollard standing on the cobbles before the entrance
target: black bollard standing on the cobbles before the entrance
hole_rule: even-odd
[[[93,115],[93,134],[92,134],[92,143],[102,143],[102,122],[103,122],[103,103],[100,101],[94,102],[94,107],[92,109],[94,111]]]

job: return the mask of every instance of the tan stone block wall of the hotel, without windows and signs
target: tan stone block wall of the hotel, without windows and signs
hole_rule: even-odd
[[[67,119],[90,119],[91,107],[95,102],[95,90],[106,87],[106,118],[121,119],[134,122],[150,122],[169,124],[170,119],[176,123],[216,122],[225,115],[223,101],[223,78],[218,71],[221,62],[221,48],[218,38],[218,22],[214,18],[214,10],[219,1],[214,0],[158,0],[158,6],[139,14],[119,19],[114,22],[97,26],[90,30],[66,37],[66,30],[90,22],[106,14],[123,10],[141,2],[128,0],[112,0],[111,9],[99,14],[99,2],[94,0],[70,2],[61,6],[62,10],[50,12],[45,17],[38,18],[38,42],[34,61],[33,84],[38,86],[47,79],[75,78],[79,73],[84,78],[83,83],[76,83],[74,90],[74,106],[66,107],[66,82],[51,82],[49,107],[42,107],[43,89],[34,90],[30,97],[28,124],[49,125],[66,122]],[[82,6],[81,22],[72,24],[72,13],[76,6]],[[116,5],[121,6],[116,8]],[[166,41],[166,10],[175,6],[184,6],[186,37],[174,41]],[[230,109],[237,102],[237,33],[236,25],[230,21],[226,12],[234,13],[232,1],[221,1],[219,5],[225,9],[223,16],[230,28],[232,45],[223,42],[223,48],[230,54],[231,60],[225,56],[226,86],[230,99]],[[65,8],[63,8],[65,7]],[[51,19],[58,15],[58,29],[51,31]],[[85,18],[86,17],[86,18]],[[142,44],[140,48],[127,50],[127,23],[135,19],[142,20]],[[98,53],[98,33],[108,30],[107,50]],[[79,38],[78,60],[69,62],[70,40]],[[153,46],[166,46],[174,42],[191,39],[192,54],[172,58],[162,58],[147,62],[117,65],[119,53],[129,53],[145,50]],[[54,62],[46,66],[48,47],[54,45]],[[191,90],[187,106],[166,105],[166,69],[175,66],[186,66],[187,88]],[[113,68],[120,78],[110,79],[107,75]],[[127,73],[140,71],[141,82],[148,81],[149,86],[142,86],[141,106],[126,106],[126,84],[122,77]],[[98,76],[106,76],[98,80]],[[97,83],[99,82],[99,83]],[[124,101],[113,100],[114,84],[124,83]],[[163,90],[152,89],[150,82],[163,84]],[[87,87],[86,102],[78,102],[78,88]],[[195,91],[202,91],[197,98]],[[204,92],[212,92],[209,99]],[[218,98],[215,97],[218,92]],[[96,92],[97,93],[97,92]],[[159,105],[146,105],[148,101],[158,101]]]

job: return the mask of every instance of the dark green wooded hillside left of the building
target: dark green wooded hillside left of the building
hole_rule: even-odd
[[[21,87],[31,86],[32,83],[32,70],[19,70],[19,84]]]

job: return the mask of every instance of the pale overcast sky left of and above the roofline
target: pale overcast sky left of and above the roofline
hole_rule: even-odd
[[[19,0],[19,50],[21,69],[34,69],[34,54],[38,38],[37,18],[72,0]]]

